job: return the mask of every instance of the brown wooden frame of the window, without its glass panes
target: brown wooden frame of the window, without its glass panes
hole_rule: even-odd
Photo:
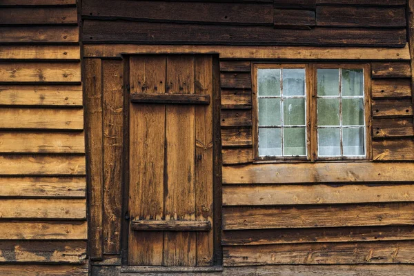
[[[259,109],[257,99],[258,69],[305,68],[306,93],[306,151],[305,157],[260,157],[259,156]],[[364,70],[364,119],[365,147],[364,157],[319,157],[317,154],[317,69],[363,69]],[[253,101],[253,161],[255,163],[315,162],[315,161],[371,161],[372,160],[372,115],[371,115],[371,66],[368,63],[252,63],[252,101]]]

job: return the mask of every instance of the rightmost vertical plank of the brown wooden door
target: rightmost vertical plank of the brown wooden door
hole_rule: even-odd
[[[213,57],[195,57],[195,93],[213,99]],[[213,225],[213,103],[195,106],[195,208]],[[197,266],[213,265],[213,230],[197,233]]]

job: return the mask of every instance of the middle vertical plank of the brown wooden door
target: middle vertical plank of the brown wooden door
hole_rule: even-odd
[[[194,57],[167,58],[167,92],[194,93]],[[166,107],[166,219],[195,220],[195,107]],[[166,232],[166,266],[196,265],[196,233]]]

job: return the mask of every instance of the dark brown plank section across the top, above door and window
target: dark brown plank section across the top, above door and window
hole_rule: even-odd
[[[84,43],[389,46],[406,0],[83,0]]]

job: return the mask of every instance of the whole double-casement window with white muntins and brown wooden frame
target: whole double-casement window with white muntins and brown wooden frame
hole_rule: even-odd
[[[367,72],[361,64],[255,64],[255,159],[368,159]]]

